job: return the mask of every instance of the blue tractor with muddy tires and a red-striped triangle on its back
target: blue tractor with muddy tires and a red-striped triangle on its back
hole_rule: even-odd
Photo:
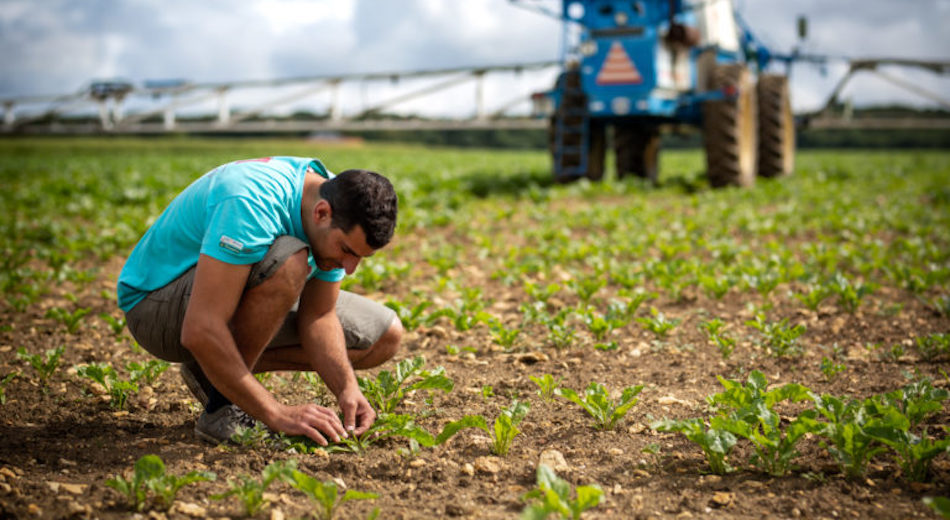
[[[563,0],[547,12],[564,22],[564,68],[535,99],[557,180],[600,180],[612,128],[617,176],[656,182],[660,131],[678,125],[701,129],[713,186],[792,171],[787,75],[766,69],[793,58],[761,45],[732,0]]]

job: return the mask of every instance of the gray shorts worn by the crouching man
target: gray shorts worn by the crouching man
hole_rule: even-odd
[[[291,255],[309,247],[305,242],[282,236],[271,245],[264,258],[251,266],[244,290],[252,289],[272,276]],[[192,267],[168,285],[149,293],[125,314],[129,331],[145,350],[152,355],[185,363],[194,361],[191,352],[181,344],[181,325],[191,298],[195,268]],[[340,291],[336,315],[343,326],[346,348],[367,349],[379,340],[392,325],[396,313],[368,298]],[[297,306],[287,314],[267,348],[300,344],[297,333]]]

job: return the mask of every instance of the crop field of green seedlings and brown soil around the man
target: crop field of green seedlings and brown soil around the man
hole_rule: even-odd
[[[396,239],[345,281],[407,329],[358,374],[392,412],[330,452],[196,439],[177,367],[149,363],[114,302],[180,189],[263,155],[375,169],[400,195]],[[0,141],[0,518],[238,518],[255,496],[256,517],[298,518],[325,482],[353,498],[336,518],[936,518],[950,153],[803,151],[750,190],[711,190],[702,169],[670,151],[659,187],[563,186],[542,152]],[[259,377],[334,404],[316,378]],[[146,455],[164,479],[131,498],[107,485]],[[541,461],[560,480],[539,483]],[[265,474],[282,476],[254,495]],[[241,482],[246,501],[216,496]]]

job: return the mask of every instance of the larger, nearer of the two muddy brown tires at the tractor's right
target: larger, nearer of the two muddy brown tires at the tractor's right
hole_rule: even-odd
[[[706,174],[716,188],[755,184],[757,106],[749,70],[740,64],[717,65],[710,85],[735,97],[703,104]]]

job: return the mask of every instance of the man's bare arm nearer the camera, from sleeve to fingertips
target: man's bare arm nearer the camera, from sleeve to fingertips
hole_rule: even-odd
[[[249,273],[248,265],[200,256],[182,324],[182,345],[219,392],[270,428],[306,435],[323,445],[326,440],[319,432],[338,441],[345,431],[331,410],[314,404],[286,406],[277,402],[248,368],[257,361],[260,351],[240,350],[228,323],[241,302]]]

